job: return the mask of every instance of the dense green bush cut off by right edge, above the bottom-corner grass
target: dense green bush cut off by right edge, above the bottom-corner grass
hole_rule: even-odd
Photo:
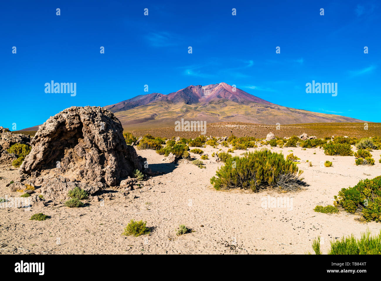
[[[365,221],[381,221],[381,176],[361,180],[354,187],[343,188],[334,199],[335,207],[362,215]]]

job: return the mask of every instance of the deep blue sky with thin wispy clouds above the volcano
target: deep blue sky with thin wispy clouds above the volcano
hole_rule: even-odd
[[[156,2],[2,1],[0,126],[117,103],[147,94],[146,84],[168,94],[219,82],[287,107],[381,122],[379,1]],[[45,93],[51,80],[77,83],[75,97]],[[306,94],[312,80],[338,83],[338,95]]]

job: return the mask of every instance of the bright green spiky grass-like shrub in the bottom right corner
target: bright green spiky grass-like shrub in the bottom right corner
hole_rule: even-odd
[[[351,236],[330,241],[331,248],[328,255],[380,255],[381,254],[381,231],[376,236],[370,236],[370,231],[361,234],[360,239]],[[321,255],[320,236],[312,242],[312,249],[315,254]],[[310,253],[309,253],[310,254]]]

